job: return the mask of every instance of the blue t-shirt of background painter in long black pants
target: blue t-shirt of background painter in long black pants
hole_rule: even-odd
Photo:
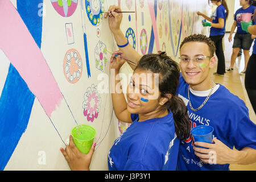
[[[212,23],[218,23],[218,19],[223,18],[224,19],[224,27],[223,28],[210,28],[210,36],[216,36],[216,35],[224,35],[225,34],[225,27],[226,27],[226,9],[223,5],[220,5],[217,7],[217,9],[214,11],[212,16]]]

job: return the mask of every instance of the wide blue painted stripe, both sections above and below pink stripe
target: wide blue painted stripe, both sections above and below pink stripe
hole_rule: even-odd
[[[43,0],[17,0],[17,9],[40,48]],[[5,169],[20,137],[27,128],[34,100],[34,94],[28,89],[18,71],[10,64],[0,98],[0,170]]]

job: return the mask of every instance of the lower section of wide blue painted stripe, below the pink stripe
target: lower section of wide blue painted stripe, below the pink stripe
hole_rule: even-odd
[[[0,170],[5,168],[20,137],[27,129],[34,100],[34,94],[10,64],[0,98]]]

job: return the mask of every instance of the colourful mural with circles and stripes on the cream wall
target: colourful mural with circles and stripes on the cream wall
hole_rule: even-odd
[[[69,169],[58,149],[82,123],[97,131],[92,169],[107,169],[97,156],[107,156],[129,127],[115,118],[111,94],[98,88],[98,76],[109,75],[108,50],[118,49],[103,17],[113,4],[134,12],[123,13],[121,30],[141,55],[161,50],[178,61],[185,36],[207,33],[196,15],[206,11],[204,0],[0,1],[1,170]]]

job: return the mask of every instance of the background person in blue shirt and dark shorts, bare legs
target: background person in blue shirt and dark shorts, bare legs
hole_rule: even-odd
[[[251,34],[249,32],[242,30],[241,21],[248,19],[247,22],[250,22],[255,10],[255,6],[251,5],[251,3],[253,2],[253,0],[240,0],[240,6],[242,7],[238,9],[234,15],[234,23],[232,25],[228,38],[229,42],[232,41],[232,34],[236,27],[237,32],[234,36],[230,67],[226,70],[226,72],[233,71],[234,63],[236,63],[238,52],[240,51],[240,49],[243,49],[243,55],[245,55],[245,69],[243,69],[240,74],[245,74],[247,63],[250,58],[249,52],[251,44],[253,43],[253,39],[251,39]]]

